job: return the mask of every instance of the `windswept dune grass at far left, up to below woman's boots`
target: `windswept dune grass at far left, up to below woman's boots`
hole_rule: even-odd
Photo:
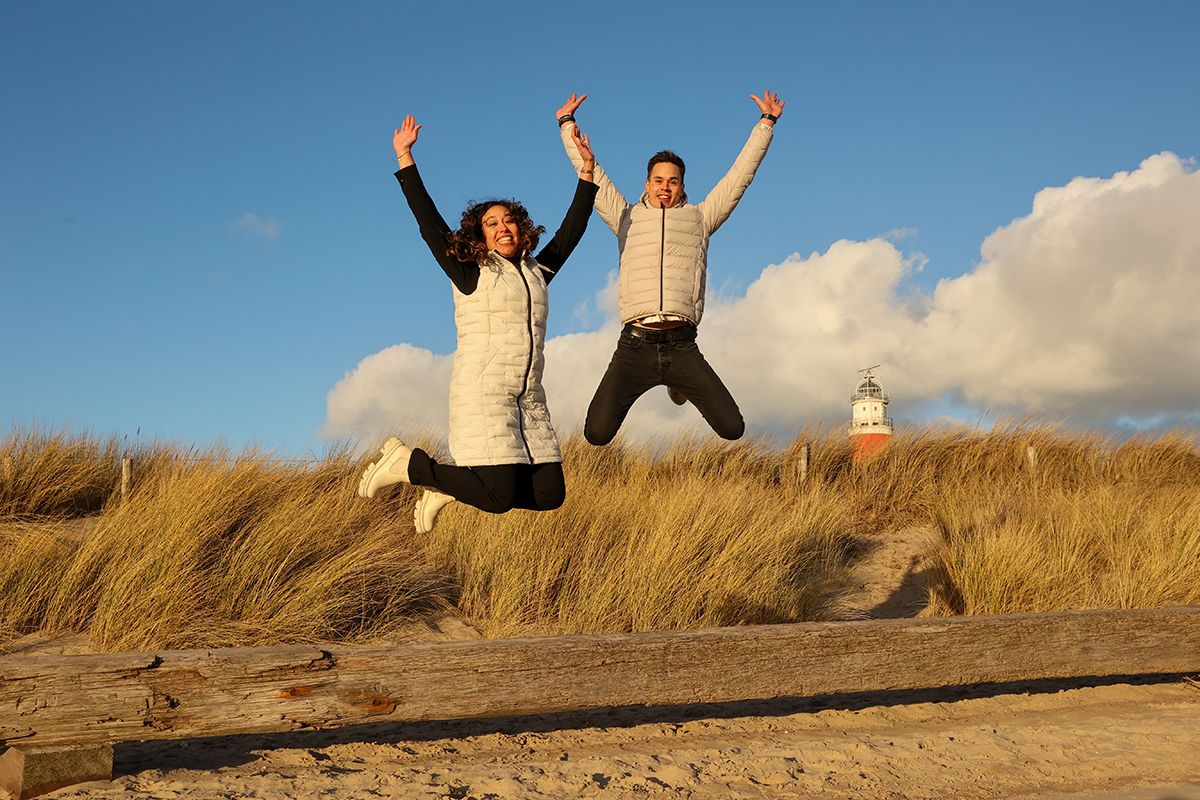
[[[71,459],[14,457],[14,482],[119,476],[109,443],[92,443],[89,458],[86,441],[70,441]],[[109,485],[106,503],[86,506],[98,516],[82,542],[55,535],[44,511],[42,525],[0,529],[0,640],[32,631],[86,633],[106,650],[360,640],[450,606],[451,587],[404,524],[412,497],[360,500],[359,463],[344,452],[305,468],[160,446],[137,464],[127,503]],[[31,518],[31,504],[13,506]]]

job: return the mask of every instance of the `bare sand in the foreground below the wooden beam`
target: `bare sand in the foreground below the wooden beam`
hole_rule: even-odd
[[[1200,800],[1200,691],[1034,687],[125,745],[49,796]]]

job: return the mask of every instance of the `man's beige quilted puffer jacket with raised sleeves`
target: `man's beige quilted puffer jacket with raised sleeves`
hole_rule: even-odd
[[[562,137],[578,170],[583,160],[571,137],[574,128],[575,122],[563,125]],[[755,125],[733,166],[696,205],[688,203],[685,194],[673,209],[655,209],[644,193],[631,204],[596,164],[596,213],[617,234],[620,249],[620,321],[678,314],[700,324],[708,281],[708,237],[737,207],[767,155],[772,134],[772,126]]]

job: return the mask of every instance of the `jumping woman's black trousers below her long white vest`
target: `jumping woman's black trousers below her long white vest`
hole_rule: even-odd
[[[418,447],[408,461],[408,480],[491,513],[512,509],[552,511],[566,499],[559,462],[454,467],[439,464]]]

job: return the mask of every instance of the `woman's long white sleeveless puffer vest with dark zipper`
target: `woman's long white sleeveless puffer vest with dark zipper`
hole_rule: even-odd
[[[542,269],[529,255],[518,269],[490,253],[475,290],[454,290],[450,455],[460,467],[563,459],[541,386],[550,309]]]

